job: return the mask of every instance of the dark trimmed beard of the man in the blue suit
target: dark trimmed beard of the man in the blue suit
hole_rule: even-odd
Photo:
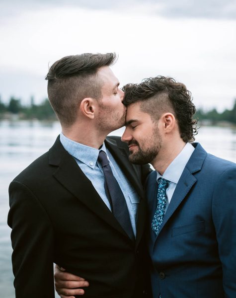
[[[151,163],[157,156],[161,148],[161,138],[156,128],[151,137],[144,138],[140,145],[135,139],[130,141],[128,145],[136,145],[137,150],[131,151],[129,155],[130,162],[134,164]]]

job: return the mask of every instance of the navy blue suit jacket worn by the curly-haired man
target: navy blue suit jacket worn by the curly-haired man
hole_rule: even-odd
[[[153,297],[236,298],[236,164],[193,145],[157,236],[156,171],[148,177]]]

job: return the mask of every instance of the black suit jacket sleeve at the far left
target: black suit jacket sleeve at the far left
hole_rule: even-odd
[[[24,184],[9,186],[8,225],[16,298],[54,298],[53,228],[37,197]]]

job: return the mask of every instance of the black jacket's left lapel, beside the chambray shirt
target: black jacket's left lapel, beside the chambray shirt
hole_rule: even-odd
[[[90,180],[84,175],[76,160],[63,148],[59,138],[50,149],[49,163],[57,166],[53,175],[68,191],[94,214],[129,239],[126,232],[94,189]]]

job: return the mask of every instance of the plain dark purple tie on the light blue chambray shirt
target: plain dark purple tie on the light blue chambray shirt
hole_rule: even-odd
[[[111,209],[114,217],[117,219],[119,224],[123,227],[128,236],[134,240],[134,232],[130,221],[130,215],[128,207],[125,201],[123,192],[114,177],[109,160],[104,151],[100,150],[98,154],[98,161],[101,163],[104,173],[104,188],[106,195],[111,203]]]

